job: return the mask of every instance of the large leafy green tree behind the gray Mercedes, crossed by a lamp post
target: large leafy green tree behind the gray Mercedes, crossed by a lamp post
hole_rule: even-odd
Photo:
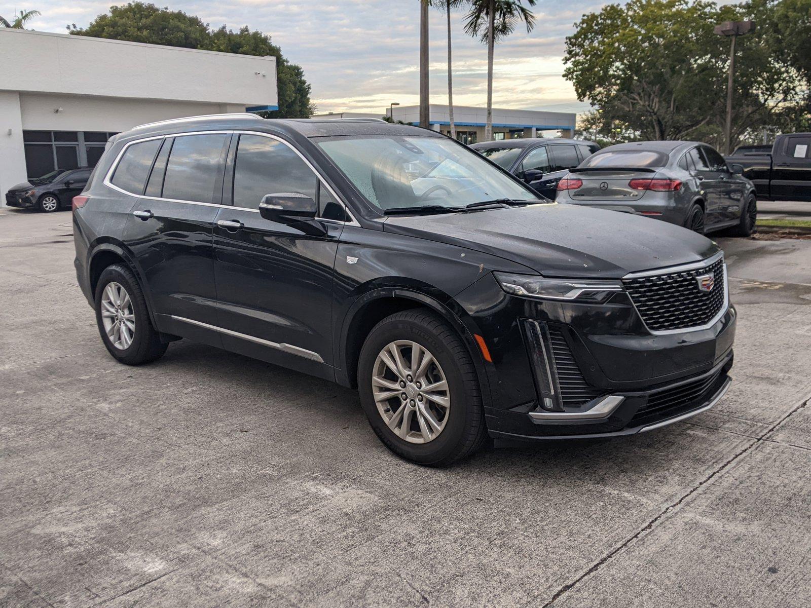
[[[688,0],[604,6],[567,37],[564,77],[579,99],[609,121],[633,125],[643,139],[715,139],[725,115],[729,41],[713,27],[745,16],[745,6]],[[795,98],[796,84],[761,32],[740,37],[733,143]]]

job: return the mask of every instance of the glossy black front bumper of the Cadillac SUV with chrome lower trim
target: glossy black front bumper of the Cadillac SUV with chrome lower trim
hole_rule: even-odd
[[[731,305],[711,325],[657,334],[625,292],[603,304],[550,302],[505,294],[495,278],[483,277],[455,299],[491,355],[484,365],[485,416],[496,438],[632,435],[708,409],[728,387]],[[549,328],[553,359],[562,364],[557,412],[539,406],[538,366],[526,334],[526,323],[536,321]]]

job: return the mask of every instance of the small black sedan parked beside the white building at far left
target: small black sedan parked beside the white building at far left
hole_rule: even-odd
[[[71,208],[71,200],[84,190],[92,169],[57,169],[41,178],[30,178],[11,186],[6,192],[6,205],[19,208],[36,208],[51,213]]]

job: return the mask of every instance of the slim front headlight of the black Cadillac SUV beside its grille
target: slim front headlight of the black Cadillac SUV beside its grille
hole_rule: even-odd
[[[577,300],[578,302],[605,302],[611,293],[622,291],[614,280],[547,279],[543,276],[513,275],[494,272],[501,289],[514,296],[542,300]]]

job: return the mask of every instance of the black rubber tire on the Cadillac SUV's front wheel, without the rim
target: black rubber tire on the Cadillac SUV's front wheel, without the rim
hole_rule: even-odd
[[[448,383],[447,422],[436,438],[426,443],[401,439],[388,428],[375,404],[371,387],[375,361],[395,340],[411,340],[427,349],[439,362]],[[470,456],[487,440],[481,389],[470,353],[453,328],[428,310],[405,310],[375,325],[358,360],[358,392],[375,434],[388,449],[405,460],[419,465],[446,466]]]

